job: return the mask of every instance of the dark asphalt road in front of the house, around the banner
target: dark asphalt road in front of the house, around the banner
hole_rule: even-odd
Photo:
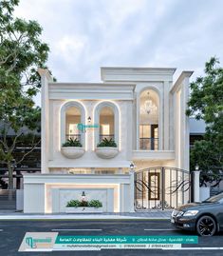
[[[214,237],[199,237],[198,245],[184,245],[196,247],[194,250],[148,250],[148,249],[113,249],[101,251],[55,251],[55,252],[18,252],[18,248],[26,232],[58,231],[60,235],[195,235],[176,230],[167,220],[97,220],[97,221],[0,221],[0,255],[223,255],[223,250],[207,250],[207,247],[223,246],[223,234]],[[200,250],[205,247],[205,250]]]

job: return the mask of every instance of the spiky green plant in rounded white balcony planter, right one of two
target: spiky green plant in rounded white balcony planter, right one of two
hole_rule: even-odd
[[[102,142],[97,145],[97,148],[95,148],[95,152],[99,157],[109,159],[115,157],[119,149],[112,138],[110,140],[104,138]]]

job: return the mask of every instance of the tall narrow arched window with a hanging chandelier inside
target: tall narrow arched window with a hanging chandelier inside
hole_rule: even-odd
[[[139,97],[139,149],[158,150],[158,93],[145,89]]]

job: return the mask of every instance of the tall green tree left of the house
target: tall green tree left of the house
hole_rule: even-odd
[[[13,188],[14,149],[29,136],[30,150],[39,144],[35,131],[40,127],[40,108],[33,102],[41,87],[37,68],[46,68],[49,48],[42,42],[42,28],[36,21],[13,16],[18,0],[0,2],[0,163],[9,169],[9,189]],[[13,134],[10,136],[9,134]]]

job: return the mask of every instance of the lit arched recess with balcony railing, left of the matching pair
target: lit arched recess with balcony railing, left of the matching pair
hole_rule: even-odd
[[[85,133],[78,129],[78,124],[85,124],[84,106],[76,101],[65,103],[61,108],[61,146],[67,139],[77,138],[85,147]]]

